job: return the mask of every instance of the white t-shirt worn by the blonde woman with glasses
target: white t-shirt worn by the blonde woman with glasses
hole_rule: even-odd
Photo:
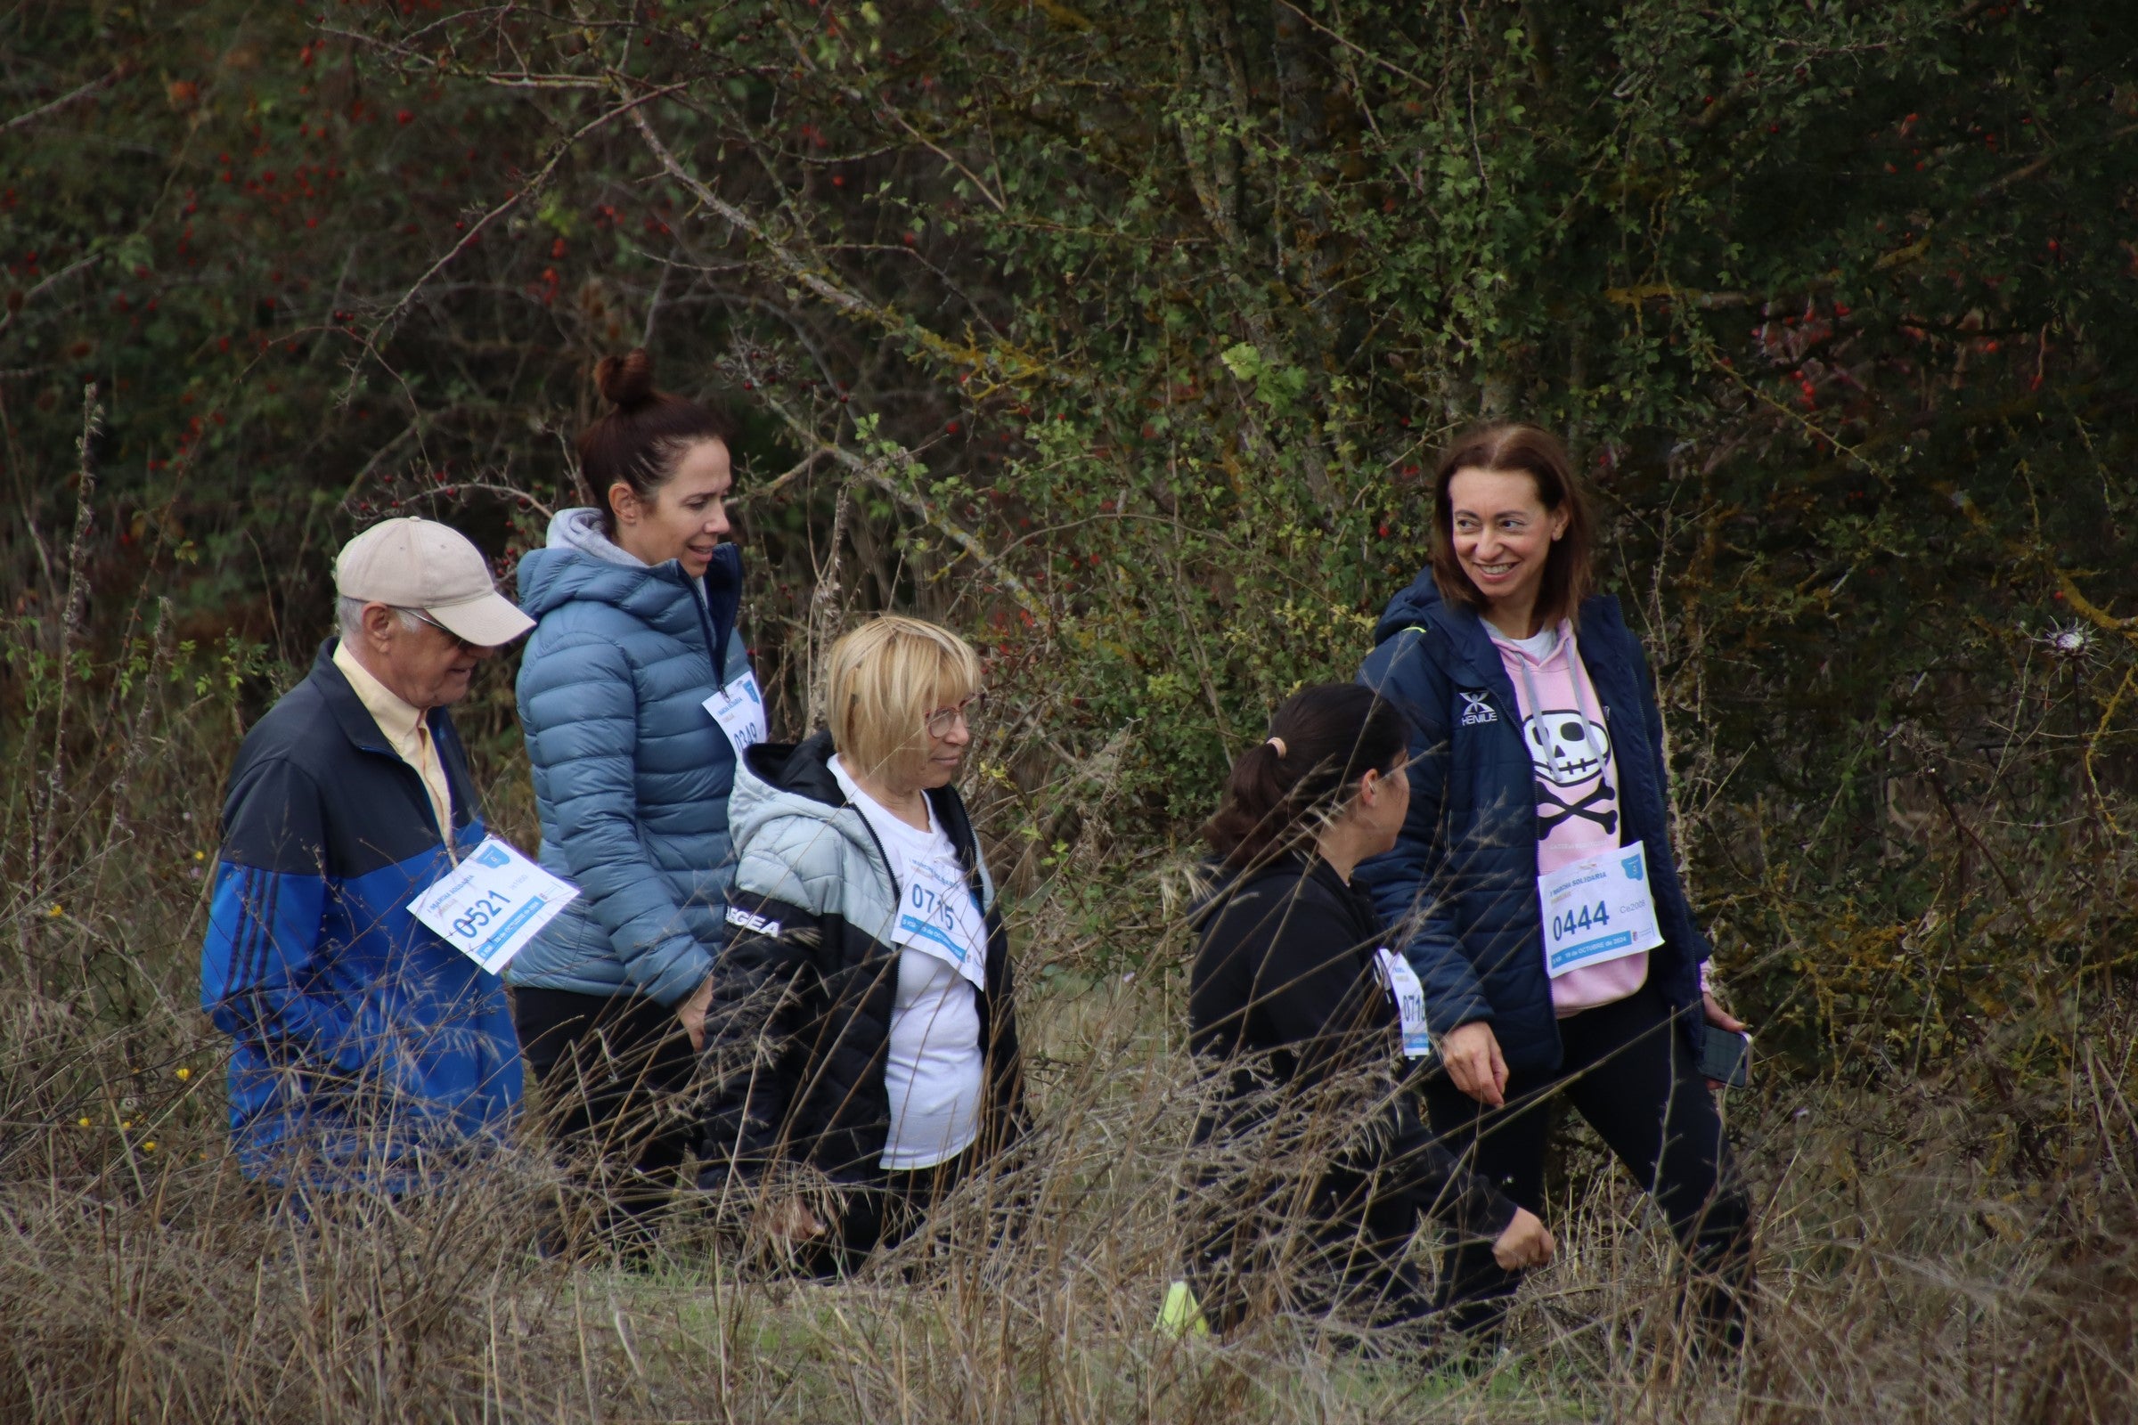
[[[900,893],[924,870],[934,872],[930,880],[964,884],[958,848],[932,816],[928,831],[915,831],[864,793],[836,756],[832,776],[883,842]],[[919,942],[898,951],[892,1043],[883,1062],[892,1132],[883,1141],[883,1158],[877,1160],[885,1169],[930,1169],[956,1158],[979,1137],[979,1096],[986,1079],[979,998],[973,983],[951,964],[951,955],[962,951],[971,966],[986,966],[988,931],[979,910],[947,917],[947,936],[956,949],[936,953]]]

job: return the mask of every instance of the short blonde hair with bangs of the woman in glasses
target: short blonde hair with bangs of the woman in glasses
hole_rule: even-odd
[[[864,778],[928,752],[928,714],[979,692],[979,654],[949,628],[879,615],[832,645],[825,722],[840,761]]]

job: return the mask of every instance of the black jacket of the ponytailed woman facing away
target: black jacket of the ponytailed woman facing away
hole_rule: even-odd
[[[1514,1203],[1432,1141],[1403,1085],[1396,1006],[1375,961],[1383,927],[1366,891],[1319,857],[1285,855],[1221,882],[1195,917],[1189,1043],[1227,1077],[1195,1141],[1274,1130],[1268,1149],[1281,1154],[1302,1141],[1287,1115],[1336,1115],[1334,1134],[1306,1139],[1334,1149],[1311,1192],[1319,1211],[1407,1192],[1417,1211],[1467,1233],[1505,1231]]]

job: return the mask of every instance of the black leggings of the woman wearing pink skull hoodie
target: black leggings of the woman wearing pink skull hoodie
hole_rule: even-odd
[[[1700,1008],[1687,1011],[1698,1015]],[[1655,1199],[1693,1267],[1693,1310],[1725,1344],[1742,1340],[1751,1288],[1751,1201],[1721,1115],[1680,1023],[1653,985],[1559,1021],[1552,1075],[1509,1075],[1507,1107],[1486,1109],[1445,1075],[1426,1081],[1441,1141],[1522,1207],[1544,1211],[1544,1147],[1565,1096]],[[1516,1275],[1490,1243],[1460,1243],[1441,1269],[1450,1325],[1499,1333]]]

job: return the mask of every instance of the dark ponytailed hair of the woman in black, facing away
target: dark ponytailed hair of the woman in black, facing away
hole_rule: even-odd
[[[1231,765],[1204,840],[1234,870],[1289,850],[1338,810],[1362,776],[1394,769],[1409,743],[1409,718],[1373,688],[1302,688],[1270,718],[1270,741]]]

